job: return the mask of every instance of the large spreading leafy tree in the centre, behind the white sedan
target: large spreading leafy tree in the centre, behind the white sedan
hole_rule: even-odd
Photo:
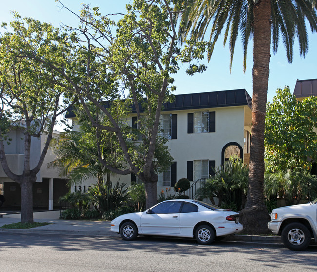
[[[78,16],[79,27],[68,27],[65,32],[71,56],[58,62],[37,54],[27,43],[22,50],[22,54],[50,67],[72,85],[88,120],[96,127],[99,161],[114,173],[137,175],[145,183],[147,207],[156,204],[157,173],[171,160],[163,145],[165,140],[158,136],[163,103],[171,98],[173,90],[171,75],[178,71],[179,62],[190,63],[193,54],[196,59],[203,58],[205,48],[205,42],[194,42],[183,51],[178,48],[172,11],[176,2],[135,0],[127,5],[126,15],[117,24],[100,14],[98,8],[84,6]],[[193,64],[189,73],[205,68]],[[105,105],[104,101],[110,103]],[[131,137],[136,139],[131,127],[128,133],[126,116],[131,106],[138,116],[138,143],[131,142]],[[99,121],[101,113],[104,118]],[[105,131],[116,136],[120,146],[117,154],[124,160],[122,167],[102,156],[101,134]],[[158,164],[158,158],[164,163]]]

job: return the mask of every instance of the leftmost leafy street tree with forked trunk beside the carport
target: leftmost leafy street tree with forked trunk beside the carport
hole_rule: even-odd
[[[20,53],[25,43],[50,58],[59,58],[56,52],[67,54],[67,51],[62,40],[59,44],[50,41],[51,37],[61,38],[50,24],[40,25],[27,19],[25,26],[18,15],[15,18],[10,25],[12,32],[0,36],[0,160],[5,174],[21,186],[21,222],[33,222],[32,187],[52,139],[56,118],[69,106],[69,96],[56,72]],[[10,143],[10,130],[22,134],[22,173],[15,172],[12,165],[10,168],[7,161],[5,144]],[[37,159],[31,143],[40,136],[45,141]]]

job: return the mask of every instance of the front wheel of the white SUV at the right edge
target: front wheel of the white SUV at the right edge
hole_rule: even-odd
[[[302,223],[290,223],[282,230],[282,241],[290,250],[304,250],[311,241],[308,228]]]

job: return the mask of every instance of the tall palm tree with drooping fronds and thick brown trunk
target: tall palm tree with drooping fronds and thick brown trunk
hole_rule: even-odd
[[[293,59],[295,36],[299,41],[300,54],[308,50],[306,22],[312,32],[317,31],[315,0],[188,0],[181,13],[179,39],[201,40],[210,30],[211,46],[208,60],[213,53],[222,30],[224,43],[229,36],[230,70],[238,33],[244,49],[244,71],[247,47],[253,36],[253,95],[252,128],[250,147],[250,171],[247,203],[240,213],[246,233],[265,233],[269,219],[263,199],[264,188],[264,124],[269,79],[270,49],[277,52],[280,36],[286,48],[287,59]],[[211,24],[211,27],[209,25]]]

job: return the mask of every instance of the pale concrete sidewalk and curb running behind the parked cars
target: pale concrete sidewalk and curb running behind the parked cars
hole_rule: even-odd
[[[49,225],[32,229],[1,229],[0,233],[36,233],[36,234],[66,234],[83,236],[112,236],[120,237],[119,234],[110,231],[110,221],[100,220],[62,220],[62,219],[34,219],[35,222],[47,222]],[[20,222],[20,218],[0,218],[0,227],[5,224]],[[224,238],[224,241],[281,243],[277,236],[258,235],[233,235]]]

